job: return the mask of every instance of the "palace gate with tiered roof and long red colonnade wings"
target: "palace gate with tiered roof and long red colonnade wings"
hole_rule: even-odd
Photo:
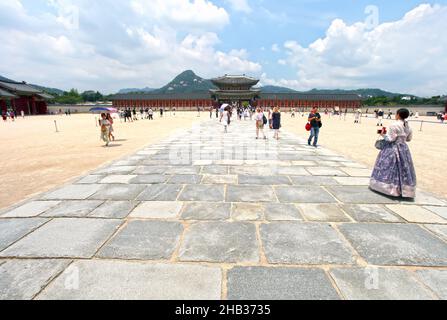
[[[115,108],[176,108],[178,111],[191,111],[200,108],[218,107],[222,103],[241,104],[263,108],[279,106],[284,111],[295,108],[309,110],[318,107],[322,110],[340,108],[358,109],[362,99],[355,94],[307,94],[307,93],[269,93],[253,88],[259,80],[247,76],[229,76],[211,80],[217,89],[196,93],[129,93],[114,95],[111,100]]]

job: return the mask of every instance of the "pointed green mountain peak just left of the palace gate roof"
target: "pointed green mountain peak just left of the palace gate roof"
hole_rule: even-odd
[[[203,79],[193,71],[187,70],[179,74],[164,87],[154,90],[154,93],[193,93],[208,92],[216,89],[211,80]]]

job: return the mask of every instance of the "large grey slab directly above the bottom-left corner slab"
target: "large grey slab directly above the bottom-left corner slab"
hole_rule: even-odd
[[[91,258],[119,220],[55,219],[3,251],[2,257]]]

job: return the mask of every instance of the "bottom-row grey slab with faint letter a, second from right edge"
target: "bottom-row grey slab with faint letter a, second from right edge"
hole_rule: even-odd
[[[429,300],[433,296],[406,270],[384,268],[332,269],[348,300]]]

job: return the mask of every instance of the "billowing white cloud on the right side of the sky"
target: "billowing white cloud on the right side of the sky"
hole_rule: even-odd
[[[269,84],[296,89],[378,87],[419,95],[447,88],[447,6],[423,4],[402,19],[370,30],[363,22],[336,19],[324,38],[309,46],[284,44],[296,79]]]

